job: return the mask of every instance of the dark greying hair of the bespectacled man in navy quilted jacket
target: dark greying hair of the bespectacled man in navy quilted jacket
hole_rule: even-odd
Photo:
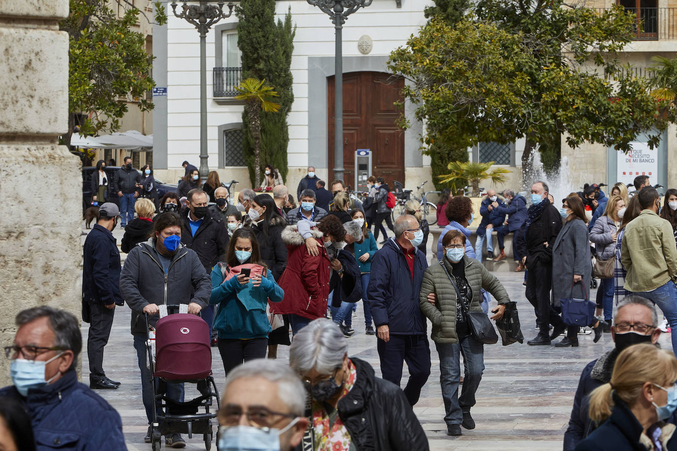
[[[58,310],[49,306],[39,306],[21,310],[14,323],[22,327],[39,318],[49,319],[49,327],[54,332],[54,343],[52,346],[65,348],[73,352],[73,362],[70,369],[75,369],[78,363],[78,356],[83,348],[83,337],[80,332],[80,325],[77,318],[66,310]]]

